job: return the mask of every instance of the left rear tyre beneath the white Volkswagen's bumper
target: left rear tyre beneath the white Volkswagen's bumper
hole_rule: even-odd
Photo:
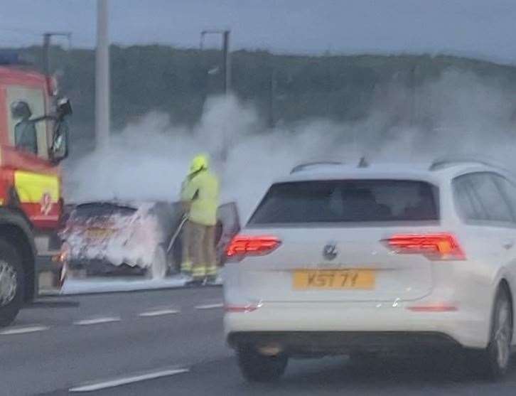
[[[260,354],[253,346],[240,346],[237,350],[238,365],[249,382],[273,382],[285,373],[289,358],[281,353],[275,356]]]

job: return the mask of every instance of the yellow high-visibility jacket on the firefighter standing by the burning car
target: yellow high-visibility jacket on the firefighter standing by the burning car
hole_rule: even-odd
[[[219,181],[210,171],[200,171],[183,183],[181,200],[190,203],[188,220],[202,225],[217,224]]]

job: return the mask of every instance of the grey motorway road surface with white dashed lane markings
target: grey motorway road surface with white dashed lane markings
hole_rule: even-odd
[[[514,395],[439,358],[294,360],[247,384],[222,336],[219,288],[48,297],[0,332],[0,395]]]

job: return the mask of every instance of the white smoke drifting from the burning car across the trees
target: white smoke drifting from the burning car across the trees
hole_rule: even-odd
[[[481,153],[516,164],[510,158],[516,141],[512,96],[496,81],[449,72],[414,92],[394,85],[377,95],[374,109],[360,122],[308,120],[273,130],[235,97],[207,100],[193,129],[151,112],[112,134],[106,153],[71,161],[65,198],[176,200],[189,161],[200,152],[212,156],[222,200],[237,200],[242,220],[269,183],[300,161],[365,155],[370,162],[419,162]]]

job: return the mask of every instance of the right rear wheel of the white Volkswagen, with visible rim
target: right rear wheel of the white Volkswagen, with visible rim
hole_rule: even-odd
[[[512,341],[512,304],[509,291],[499,287],[491,317],[491,331],[488,348],[470,354],[475,374],[488,380],[500,380],[510,366]]]

